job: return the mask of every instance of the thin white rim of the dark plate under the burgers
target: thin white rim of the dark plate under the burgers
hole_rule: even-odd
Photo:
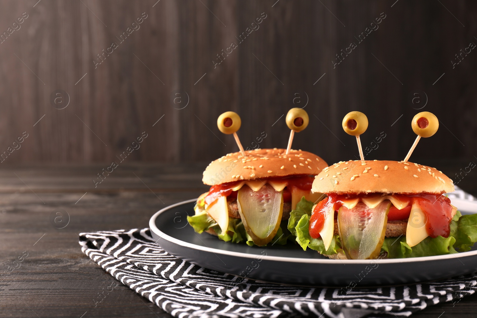
[[[407,258],[381,258],[381,259],[321,259],[321,258],[298,258],[298,257],[284,257],[284,256],[269,256],[269,255],[259,255],[259,254],[247,254],[242,252],[232,252],[232,251],[225,251],[223,249],[211,248],[207,246],[200,246],[191,244],[188,242],[181,241],[175,237],[169,236],[166,233],[159,230],[156,226],[156,218],[161,215],[162,213],[170,210],[178,205],[184,205],[187,203],[197,202],[196,199],[190,199],[186,201],[181,201],[175,203],[173,205],[168,205],[165,208],[157,211],[149,220],[149,228],[152,232],[159,234],[159,239],[164,238],[169,242],[175,243],[180,246],[185,246],[189,248],[193,248],[196,250],[204,251],[204,252],[212,252],[216,254],[228,255],[228,256],[236,256],[236,257],[245,257],[245,258],[253,258],[256,259],[261,257],[261,259],[269,260],[269,261],[278,261],[278,262],[290,262],[290,263],[310,263],[310,264],[375,264],[376,262],[384,263],[384,264],[396,264],[396,263],[413,263],[413,262],[425,262],[425,261],[436,261],[436,260],[443,260],[443,259],[451,259],[451,258],[462,258],[468,256],[475,256],[477,255],[476,251],[468,251],[468,252],[461,252],[456,254],[447,254],[447,255],[436,255],[436,256],[422,256],[422,257],[407,257]],[[159,241],[159,239],[156,240]],[[317,252],[318,253],[318,252]]]

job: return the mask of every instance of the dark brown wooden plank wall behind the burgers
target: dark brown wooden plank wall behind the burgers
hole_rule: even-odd
[[[477,44],[476,2],[37,1],[0,0],[2,33],[28,14],[0,44],[0,152],[28,133],[3,164],[111,162],[142,132],[148,136],[128,160],[210,161],[237,149],[216,126],[227,110],[242,117],[245,147],[262,132],[260,147],[285,147],[281,116],[305,104],[311,123],[293,146],[329,163],[357,155],[341,128],[352,110],[369,118],[363,147],[386,134],[369,159],[403,159],[424,105],[441,125],[412,158],[477,161],[477,50],[451,62]],[[143,12],[140,28],[120,42]],[[379,28],[359,43],[382,12]],[[238,47],[214,66],[232,42]],[[333,66],[351,42],[357,47]],[[51,102],[56,90],[69,96],[64,109],[68,96]]]

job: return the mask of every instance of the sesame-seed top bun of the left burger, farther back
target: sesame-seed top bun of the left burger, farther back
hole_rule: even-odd
[[[301,150],[255,149],[226,154],[212,161],[204,171],[202,182],[220,185],[226,182],[280,177],[296,174],[319,174],[328,164],[316,154]]]

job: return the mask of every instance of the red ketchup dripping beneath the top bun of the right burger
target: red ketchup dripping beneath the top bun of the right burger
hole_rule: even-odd
[[[343,199],[353,199],[356,197],[362,198],[368,195],[333,195],[330,194],[325,199],[321,200],[313,210],[310,218],[309,232],[313,238],[320,237],[320,232],[323,229],[325,221],[325,213],[330,211],[339,210],[342,206]],[[427,234],[431,237],[443,236],[449,237],[450,234],[450,222],[452,219],[452,206],[450,205],[450,199],[444,195],[426,195],[426,194],[409,194],[409,195],[393,195],[401,202],[408,202],[407,207],[402,210],[406,212],[402,214],[402,219],[405,220],[409,217],[411,212],[411,206],[415,203],[419,205],[421,210],[425,213],[427,220],[425,223]],[[391,206],[393,210],[394,205]],[[396,208],[394,208],[396,209]],[[396,209],[397,210],[397,209]],[[397,210],[399,211],[399,210]],[[391,220],[391,217],[388,219]],[[393,218],[394,220],[394,218]],[[396,219],[397,220],[397,219]]]

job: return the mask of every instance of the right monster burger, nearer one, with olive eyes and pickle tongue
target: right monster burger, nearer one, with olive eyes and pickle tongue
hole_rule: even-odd
[[[435,133],[436,116],[423,113],[415,122],[425,118]],[[407,162],[409,156],[406,161],[350,160],[323,169],[312,191],[327,198],[292,225],[297,241],[348,259],[469,250],[477,240],[477,215],[461,216],[444,195],[454,191],[452,180],[436,168]]]

